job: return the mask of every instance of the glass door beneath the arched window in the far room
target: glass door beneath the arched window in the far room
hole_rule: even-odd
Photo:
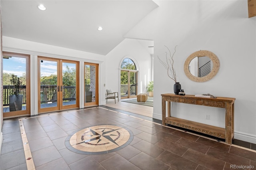
[[[121,70],[121,99],[137,97],[138,72]]]

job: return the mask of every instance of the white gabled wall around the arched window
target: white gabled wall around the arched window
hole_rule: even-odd
[[[138,63],[138,93],[145,93],[151,81],[152,57],[142,45],[134,39],[125,39],[106,55],[106,89],[118,91],[120,88],[120,63],[124,58],[131,58]]]

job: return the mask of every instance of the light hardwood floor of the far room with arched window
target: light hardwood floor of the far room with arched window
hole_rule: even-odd
[[[116,109],[121,109],[121,110],[132,112],[132,113],[136,113],[139,115],[144,115],[147,117],[152,117],[153,107],[122,102],[123,100],[127,100],[127,99],[121,99],[121,100],[119,100],[119,102],[116,101],[116,104],[115,104],[114,99],[108,99],[108,101],[106,102],[106,106],[113,107]]]

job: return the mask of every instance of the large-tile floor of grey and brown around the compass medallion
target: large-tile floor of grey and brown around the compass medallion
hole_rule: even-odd
[[[255,150],[163,127],[159,120],[105,106],[44,114],[22,122],[36,170],[226,170],[234,165],[256,168]],[[66,148],[65,139],[72,132],[102,124],[132,130],[132,142],[116,152],[98,155],[78,154]],[[0,169],[27,169],[18,118],[5,119],[2,132]]]

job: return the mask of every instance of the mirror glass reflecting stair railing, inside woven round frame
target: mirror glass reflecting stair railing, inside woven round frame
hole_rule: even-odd
[[[194,57],[189,65],[188,69],[195,77],[204,77],[212,71],[213,63],[208,56]]]

